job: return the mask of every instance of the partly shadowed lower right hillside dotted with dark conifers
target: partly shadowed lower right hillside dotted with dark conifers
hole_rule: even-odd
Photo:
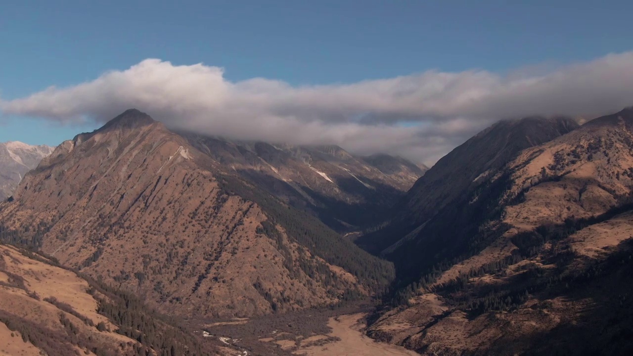
[[[422,355],[629,355],[632,207],[515,235],[510,255],[456,265],[368,333]]]

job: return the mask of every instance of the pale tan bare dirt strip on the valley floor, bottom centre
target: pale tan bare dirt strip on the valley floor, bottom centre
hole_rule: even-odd
[[[330,318],[328,326],[332,327],[332,333],[329,336],[341,338],[341,341],[335,341],[321,346],[310,346],[301,348],[295,353],[297,355],[308,356],[413,356],[418,355],[410,350],[406,350],[400,346],[389,345],[387,343],[379,343],[368,338],[361,332],[365,327],[363,317],[365,314],[341,315],[340,317]]]

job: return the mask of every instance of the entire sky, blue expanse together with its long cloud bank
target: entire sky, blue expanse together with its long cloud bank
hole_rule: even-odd
[[[629,1],[14,1],[0,142],[174,129],[432,165],[503,118],[633,105]]]

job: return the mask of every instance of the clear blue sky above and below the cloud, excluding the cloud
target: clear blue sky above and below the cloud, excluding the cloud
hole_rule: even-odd
[[[630,51],[631,13],[630,1],[13,1],[0,11],[0,95],[73,86],[146,58],[291,86],[538,72]],[[0,142],[57,144],[97,126],[25,116],[4,113]]]

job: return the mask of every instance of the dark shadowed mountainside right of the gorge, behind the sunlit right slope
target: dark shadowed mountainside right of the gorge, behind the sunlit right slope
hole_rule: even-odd
[[[442,208],[460,204],[522,149],[546,143],[577,127],[575,121],[565,117],[528,117],[492,125],[442,157],[392,210],[391,223],[357,243],[374,254],[389,253],[403,242],[399,239],[413,238],[410,234],[417,234],[417,229]]]

